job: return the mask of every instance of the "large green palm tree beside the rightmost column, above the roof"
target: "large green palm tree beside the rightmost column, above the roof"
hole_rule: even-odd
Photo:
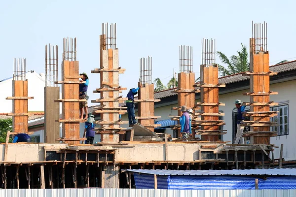
[[[237,51],[238,55],[231,56],[230,60],[221,51],[217,51],[222,63],[227,65],[227,68],[224,66],[218,65],[219,71],[222,76],[250,70],[249,55],[248,55],[247,47],[244,46],[242,43],[241,45],[242,45],[242,49],[240,51]]]

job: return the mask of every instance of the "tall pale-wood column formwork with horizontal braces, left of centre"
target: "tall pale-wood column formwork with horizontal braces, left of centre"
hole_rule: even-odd
[[[124,73],[125,69],[118,66],[118,49],[107,49],[106,36],[100,35],[100,68],[95,68],[92,73],[100,73],[101,88],[93,93],[100,93],[101,98],[91,102],[99,102],[93,114],[100,114],[101,120],[97,121],[100,125],[96,128],[96,134],[101,134],[101,141],[118,142],[119,134],[125,133],[126,128],[121,128],[120,124],[127,121],[119,120],[119,114],[126,112],[126,107],[121,107],[119,103],[127,98],[122,98],[119,93],[126,88],[119,86],[119,73]]]

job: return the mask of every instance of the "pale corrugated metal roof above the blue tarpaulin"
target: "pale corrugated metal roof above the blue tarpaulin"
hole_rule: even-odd
[[[281,169],[232,169],[232,170],[166,170],[166,169],[125,169],[129,172],[168,175],[285,175],[296,176],[296,168]]]

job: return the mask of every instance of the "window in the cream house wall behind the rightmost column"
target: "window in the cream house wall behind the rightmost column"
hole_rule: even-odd
[[[278,135],[289,134],[289,105],[270,107],[270,111],[278,111],[277,116],[270,118],[271,122],[277,122],[277,127],[270,127],[270,131],[277,131]]]

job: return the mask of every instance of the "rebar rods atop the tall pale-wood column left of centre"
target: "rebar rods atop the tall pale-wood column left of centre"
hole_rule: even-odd
[[[104,49],[116,49],[116,23],[111,23],[110,26],[102,23],[102,35],[105,35]]]

